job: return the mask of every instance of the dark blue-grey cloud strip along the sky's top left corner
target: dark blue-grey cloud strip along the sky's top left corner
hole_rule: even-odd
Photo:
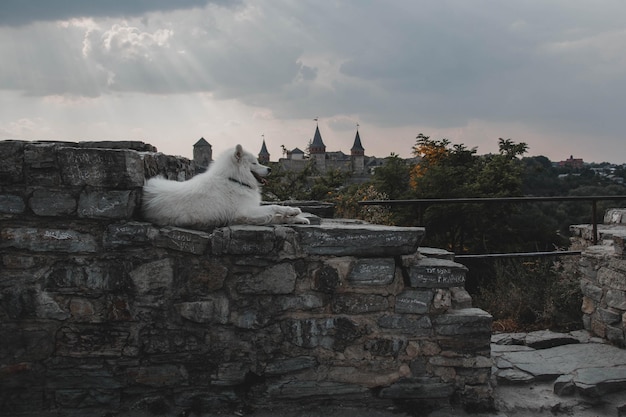
[[[2,0],[0,25],[21,26],[36,21],[73,17],[130,17],[154,11],[235,5],[236,0]]]

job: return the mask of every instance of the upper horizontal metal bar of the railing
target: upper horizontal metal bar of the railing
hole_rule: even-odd
[[[595,196],[553,196],[553,197],[468,197],[468,198],[418,198],[411,200],[366,200],[360,205],[419,205],[419,204],[462,204],[462,203],[525,203],[543,201],[604,201],[626,200],[626,195],[595,195]]]

